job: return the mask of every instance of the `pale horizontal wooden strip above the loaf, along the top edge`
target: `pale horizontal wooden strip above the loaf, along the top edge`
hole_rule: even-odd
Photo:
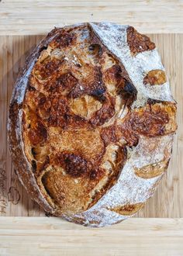
[[[112,21],[142,33],[182,33],[182,0],[0,0],[0,35],[47,33],[75,22]]]

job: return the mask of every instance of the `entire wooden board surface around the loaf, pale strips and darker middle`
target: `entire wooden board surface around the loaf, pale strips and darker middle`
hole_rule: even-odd
[[[157,43],[171,91],[178,102],[178,133],[167,175],[154,197],[137,214],[143,218],[90,229],[60,218],[47,218],[29,199],[12,168],[6,143],[6,120],[19,68],[43,35],[54,26],[102,20],[135,26],[141,33],[150,33]],[[1,256],[183,255],[182,70],[182,0],[0,0]]]

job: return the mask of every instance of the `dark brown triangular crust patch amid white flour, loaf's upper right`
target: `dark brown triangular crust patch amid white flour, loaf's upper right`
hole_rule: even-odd
[[[127,29],[127,42],[133,55],[142,53],[145,50],[154,50],[155,48],[155,44],[150,41],[150,38],[138,33],[133,26],[129,26]]]

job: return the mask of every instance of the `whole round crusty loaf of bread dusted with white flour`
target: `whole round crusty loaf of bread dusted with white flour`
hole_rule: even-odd
[[[91,227],[118,223],[143,207],[167,170],[175,112],[149,37],[110,22],[55,28],[12,93],[19,180],[49,214]]]

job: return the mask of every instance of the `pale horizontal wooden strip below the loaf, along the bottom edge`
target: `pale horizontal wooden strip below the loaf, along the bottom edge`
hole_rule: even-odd
[[[133,218],[91,229],[59,218],[2,217],[0,255],[182,256],[182,230],[183,219]]]

